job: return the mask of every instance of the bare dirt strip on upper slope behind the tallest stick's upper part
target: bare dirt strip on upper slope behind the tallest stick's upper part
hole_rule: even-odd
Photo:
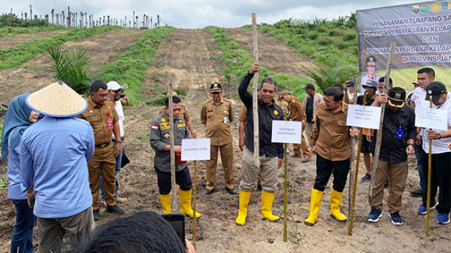
[[[247,28],[226,29],[236,39],[244,50],[253,55],[252,30]],[[305,77],[302,67],[309,68],[311,64],[309,57],[296,52],[296,48],[287,46],[282,41],[265,33],[258,32],[258,57],[262,66],[276,73]]]

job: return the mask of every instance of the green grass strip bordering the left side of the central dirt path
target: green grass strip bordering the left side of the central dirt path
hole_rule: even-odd
[[[104,71],[97,77],[105,82],[116,80],[121,84],[128,84],[126,90],[128,100],[131,104],[138,104],[144,101],[144,93],[142,86],[146,79],[146,71],[148,66],[153,62],[153,55],[157,52],[158,47],[173,30],[172,27],[160,27],[146,32],[136,44],[128,48],[126,53],[108,64]]]

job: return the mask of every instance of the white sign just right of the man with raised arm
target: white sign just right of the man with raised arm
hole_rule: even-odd
[[[300,144],[302,130],[299,121],[273,120],[271,142]]]

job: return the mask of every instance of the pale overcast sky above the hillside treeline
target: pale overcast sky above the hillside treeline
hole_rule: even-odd
[[[418,3],[405,0],[0,0],[0,12],[17,13],[29,12],[30,4],[33,14],[50,14],[65,10],[67,7],[73,12],[88,12],[97,19],[104,15],[111,15],[118,19],[130,20],[135,10],[142,19],[144,14],[161,17],[162,24],[176,28],[204,28],[205,26],[238,27],[251,24],[251,12],[256,12],[257,23],[274,24],[281,19],[290,17],[296,19],[327,18],[347,16],[356,10],[393,6],[404,3]]]

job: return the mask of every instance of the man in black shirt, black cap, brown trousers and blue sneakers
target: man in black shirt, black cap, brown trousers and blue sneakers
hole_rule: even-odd
[[[384,112],[381,151],[379,153],[376,178],[374,180],[372,207],[368,221],[376,223],[382,217],[383,190],[389,178],[390,196],[388,198],[389,216],[394,225],[402,225],[399,215],[401,198],[405,180],[407,179],[407,155],[415,153],[414,140],[416,138],[415,111],[405,105],[405,91],[403,88],[390,89],[388,97],[381,93],[372,106],[386,103]],[[376,131],[377,132],[377,131]],[[376,141],[373,136],[369,151],[374,153]]]

